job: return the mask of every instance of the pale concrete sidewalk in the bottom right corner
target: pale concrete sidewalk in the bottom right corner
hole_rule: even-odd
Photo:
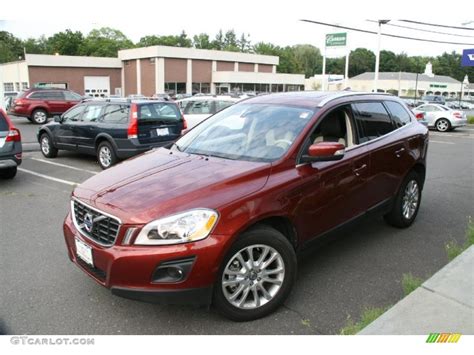
[[[369,324],[362,335],[474,334],[474,246]]]

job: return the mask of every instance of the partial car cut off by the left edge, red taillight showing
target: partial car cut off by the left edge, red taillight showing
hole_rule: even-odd
[[[0,108],[0,177],[13,179],[21,164],[21,134],[4,110]]]

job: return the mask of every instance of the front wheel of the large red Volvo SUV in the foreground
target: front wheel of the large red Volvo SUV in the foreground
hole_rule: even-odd
[[[253,262],[249,247],[253,247]],[[274,260],[270,261],[271,258]],[[243,266],[239,260],[253,266]],[[214,306],[223,316],[238,322],[264,317],[280,307],[290,294],[296,268],[295,250],[283,234],[267,226],[252,228],[237,239],[222,261],[214,285]],[[270,271],[273,272],[265,275]],[[231,300],[233,296],[235,299]]]

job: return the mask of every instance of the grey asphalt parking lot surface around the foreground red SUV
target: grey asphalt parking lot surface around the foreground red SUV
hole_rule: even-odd
[[[233,323],[212,308],[113,296],[74,266],[62,222],[74,185],[100,168],[93,157],[74,153],[44,158],[29,144],[37,126],[14,122],[31,151],[14,180],[0,181],[0,333],[336,334],[364,307],[401,299],[404,273],[426,279],[444,266],[446,242],[463,242],[474,215],[474,128],[431,132],[426,185],[411,228],[394,229],[381,217],[359,222],[305,253],[284,307],[264,319]]]

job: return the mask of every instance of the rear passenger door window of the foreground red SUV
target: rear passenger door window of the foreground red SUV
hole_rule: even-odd
[[[360,143],[381,137],[395,129],[381,102],[362,102],[352,106],[359,128]]]

